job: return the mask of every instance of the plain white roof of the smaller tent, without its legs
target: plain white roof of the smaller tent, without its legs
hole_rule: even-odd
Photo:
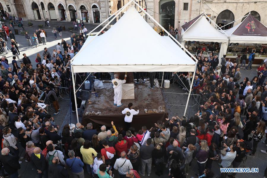
[[[227,34],[215,29],[206,19],[206,16],[204,14],[199,16],[197,20],[196,19],[193,20],[194,22],[186,30],[182,29],[183,41],[201,41],[201,42],[219,42],[219,43],[228,42]],[[191,21],[187,23],[191,23]],[[186,24],[184,24],[183,26],[185,26]]]

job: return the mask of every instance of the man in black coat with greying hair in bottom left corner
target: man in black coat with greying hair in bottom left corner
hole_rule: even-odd
[[[3,148],[0,161],[10,177],[18,177],[18,169],[20,169],[19,157],[13,156],[9,152],[9,148]]]

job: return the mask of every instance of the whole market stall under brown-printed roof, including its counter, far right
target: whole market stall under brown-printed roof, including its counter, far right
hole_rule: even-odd
[[[227,58],[236,58],[245,52],[248,57],[252,50],[256,50],[253,64],[260,64],[267,58],[267,27],[251,14],[243,22],[225,30],[225,33],[230,36],[229,46],[225,50]]]

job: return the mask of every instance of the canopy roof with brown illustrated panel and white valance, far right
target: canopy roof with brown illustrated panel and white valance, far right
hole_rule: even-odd
[[[230,36],[231,43],[267,43],[267,27],[251,14],[225,33]]]

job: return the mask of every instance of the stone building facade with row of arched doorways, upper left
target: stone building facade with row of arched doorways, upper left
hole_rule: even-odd
[[[109,0],[0,0],[0,7],[24,20],[101,23],[109,17]]]

